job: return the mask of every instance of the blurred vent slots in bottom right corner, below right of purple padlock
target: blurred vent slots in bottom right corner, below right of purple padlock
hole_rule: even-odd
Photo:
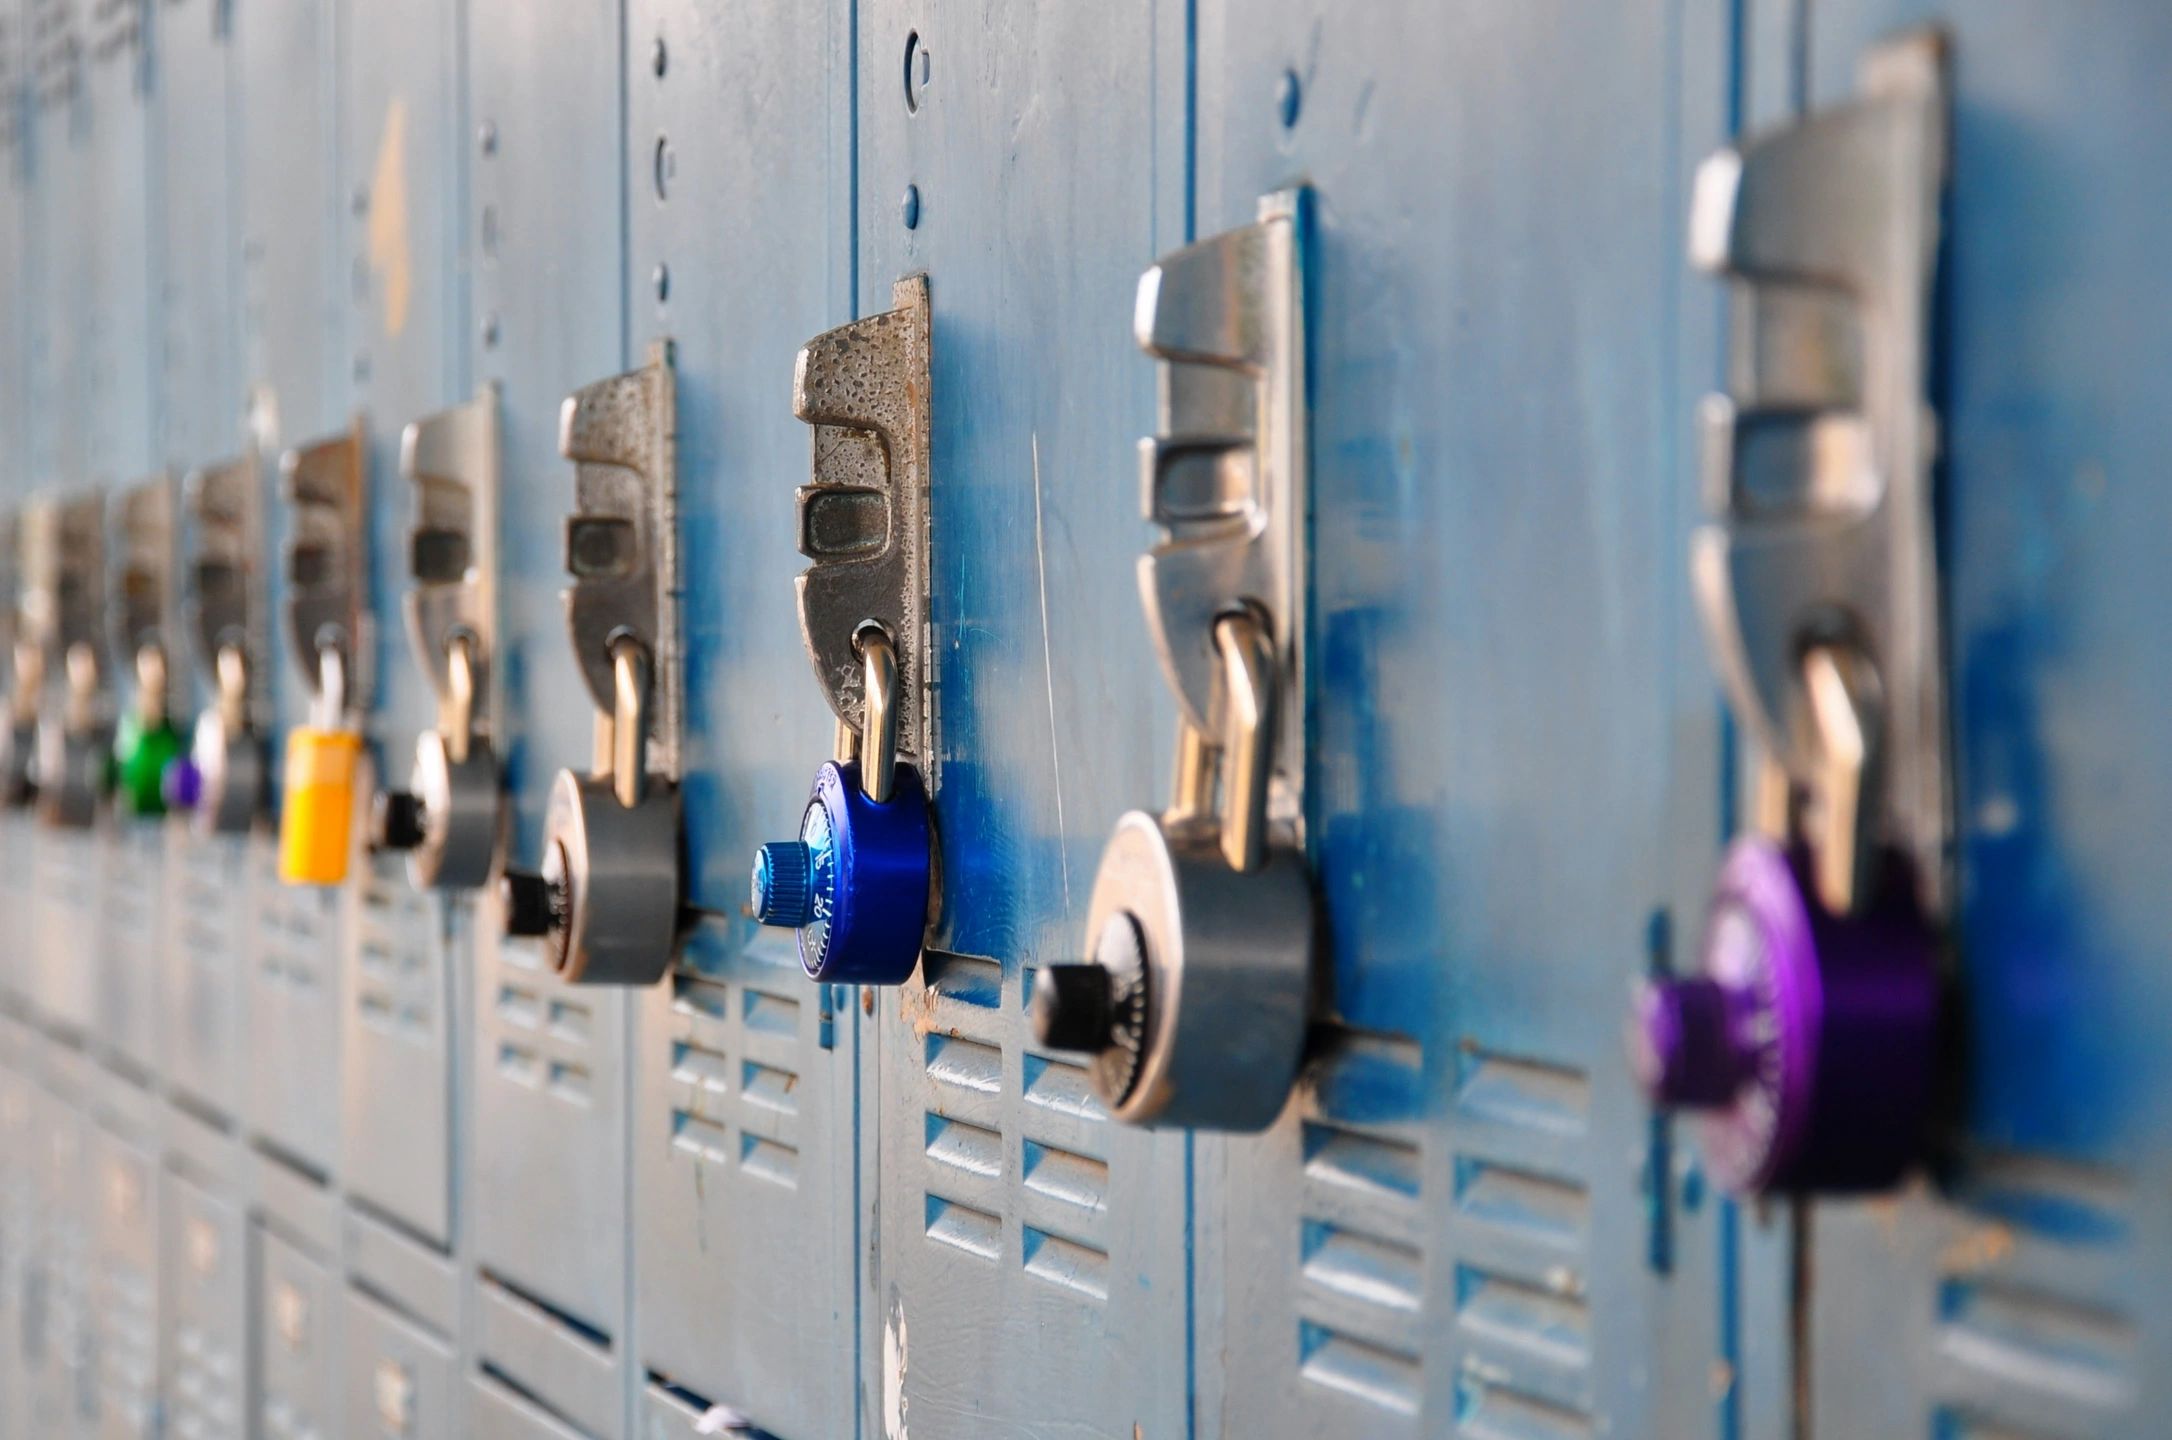
[[[1940,1253],[1933,1436],[2109,1433],[2135,1414],[2133,1197],[2100,1171],[1979,1155]]]

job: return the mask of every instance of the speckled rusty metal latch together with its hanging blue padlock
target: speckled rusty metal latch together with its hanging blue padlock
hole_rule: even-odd
[[[823,982],[899,984],[934,919],[927,682],[927,276],[891,308],[799,350],[793,413],[815,428],[799,487],[799,639],[836,712],[799,836],[754,860],[754,919],[799,932]]]

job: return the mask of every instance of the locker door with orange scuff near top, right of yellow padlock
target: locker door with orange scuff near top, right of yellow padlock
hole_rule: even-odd
[[[397,643],[406,582],[408,484],[397,473],[408,419],[467,393],[460,274],[460,111],[456,11],[371,4],[345,11],[341,52],[345,254],[352,263],[352,397],[367,417],[380,773],[406,773],[434,704]],[[367,795],[369,791],[358,791]],[[348,936],[341,1171],[369,1201],[452,1245],[452,919],[408,886],[397,856],[358,864]]]

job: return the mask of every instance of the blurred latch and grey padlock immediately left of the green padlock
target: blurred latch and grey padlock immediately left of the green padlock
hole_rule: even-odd
[[[109,784],[113,717],[106,699],[106,506],[83,493],[28,515],[26,602],[59,671],[61,697],[37,730],[37,810],[48,825],[87,830]]]

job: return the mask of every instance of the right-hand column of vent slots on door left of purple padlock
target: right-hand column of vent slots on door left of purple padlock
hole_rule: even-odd
[[[1457,1436],[1590,1436],[1590,1075],[1464,1040],[1455,1053]]]

